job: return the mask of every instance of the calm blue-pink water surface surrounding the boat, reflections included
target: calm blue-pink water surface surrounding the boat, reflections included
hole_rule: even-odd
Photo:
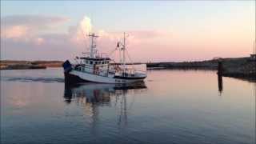
[[[222,86],[221,86],[222,84]],[[62,69],[1,71],[2,143],[255,143],[254,82],[150,70],[145,83],[65,87]]]

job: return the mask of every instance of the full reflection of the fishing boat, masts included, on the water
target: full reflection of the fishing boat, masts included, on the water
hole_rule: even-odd
[[[126,126],[127,110],[133,105],[134,95],[146,90],[144,82],[130,84],[103,84],[85,83],[81,85],[65,86],[64,98],[67,104],[75,102],[84,108],[85,115],[89,116],[91,126],[95,130],[98,122],[99,107],[114,106],[118,110],[118,125]],[[130,95],[127,101],[126,94]]]

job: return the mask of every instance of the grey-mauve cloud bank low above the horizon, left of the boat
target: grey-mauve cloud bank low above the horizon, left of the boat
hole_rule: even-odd
[[[60,38],[62,36],[59,36]],[[41,42],[42,39],[45,42]],[[1,58],[14,60],[65,60],[66,58],[74,58],[78,54],[78,50],[74,49],[74,45],[66,42],[65,38],[62,39],[62,42],[49,42],[50,38],[42,39],[39,38],[34,42],[6,39],[1,42]],[[51,39],[51,41],[54,41],[54,39]]]

